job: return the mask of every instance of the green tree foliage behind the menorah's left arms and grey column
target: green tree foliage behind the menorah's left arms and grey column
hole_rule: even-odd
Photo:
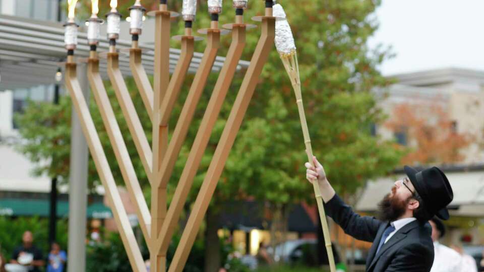
[[[128,90],[131,90],[135,107],[143,109],[138,111],[138,115],[144,124],[148,141],[150,141],[151,122],[146,110],[144,110],[143,101],[138,95],[134,80],[129,79],[126,84]],[[132,157],[138,179],[142,186],[146,185],[148,184],[147,176],[137,154],[133,138],[129,133],[128,125],[120,110],[114,90],[108,83],[106,84],[106,92],[111,100],[119,127],[121,131],[125,132],[123,133],[125,143]],[[71,152],[71,103],[69,96],[61,97],[58,105],[54,105],[51,102],[30,101],[27,103],[24,112],[15,116],[15,121],[20,127],[19,132],[24,139],[17,145],[17,149],[24,153],[32,162],[37,163],[33,169],[34,175],[46,174],[51,177],[56,176],[61,183],[68,181]],[[93,95],[90,95],[89,107],[106,157],[111,166],[114,180],[122,182],[123,178]],[[89,187],[94,188],[95,185],[100,184],[100,181],[92,158],[89,158],[88,171]]]

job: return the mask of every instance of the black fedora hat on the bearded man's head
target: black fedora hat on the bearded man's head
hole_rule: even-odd
[[[444,172],[435,166],[417,171],[405,165],[403,169],[422,198],[429,219],[434,215],[443,220],[449,219],[447,205],[454,198],[454,193]]]

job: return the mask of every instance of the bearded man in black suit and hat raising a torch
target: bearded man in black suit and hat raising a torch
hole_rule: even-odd
[[[379,216],[360,216],[335,193],[323,166],[306,163],[306,177],[318,182],[325,211],[346,234],[373,242],[367,257],[367,272],[429,272],[434,261],[432,228],[434,215],[448,219],[447,205],[453,192],[445,174],[437,167],[420,172],[405,166],[407,177],[395,181],[379,202]]]

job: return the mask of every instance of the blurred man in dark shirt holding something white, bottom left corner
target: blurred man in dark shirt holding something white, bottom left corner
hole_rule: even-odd
[[[21,264],[27,267],[29,272],[40,272],[40,267],[45,265],[42,251],[34,244],[32,232],[26,231],[22,235],[22,245],[16,247],[10,263]]]

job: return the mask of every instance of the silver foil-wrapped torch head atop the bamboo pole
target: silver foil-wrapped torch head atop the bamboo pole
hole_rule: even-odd
[[[274,17],[286,18],[286,13],[280,4],[272,7],[272,14]],[[294,36],[292,36],[291,27],[287,20],[276,21],[276,33],[274,42],[276,44],[277,52],[282,56],[289,56],[296,51],[294,43]]]

